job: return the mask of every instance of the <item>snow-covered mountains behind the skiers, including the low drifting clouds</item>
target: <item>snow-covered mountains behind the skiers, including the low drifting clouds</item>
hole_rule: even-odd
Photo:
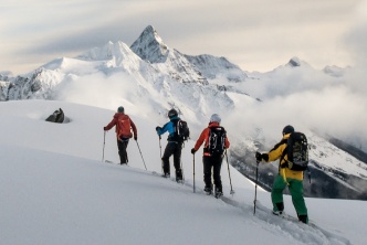
[[[331,143],[314,130],[318,129],[315,125],[303,125],[314,110],[306,111],[307,119],[301,121],[271,111],[285,110],[276,98],[286,97],[285,104],[293,105],[294,94],[340,84],[344,73],[335,67],[316,71],[298,57],[268,73],[248,73],[224,57],[186,55],[170,49],[147,26],[132,46],[109,42],[22,76],[1,75],[0,100],[53,99],[108,109],[124,105],[127,111],[151,118],[151,128],[165,122],[167,110],[175,107],[189,121],[193,139],[210,115],[219,113],[232,142],[231,164],[250,179],[254,178],[254,151],[271,149],[282,127],[293,121],[307,134],[312,147],[312,187],[305,188],[306,194],[367,199],[360,188],[367,181],[366,162]],[[260,180],[269,189],[277,166],[261,168]]]

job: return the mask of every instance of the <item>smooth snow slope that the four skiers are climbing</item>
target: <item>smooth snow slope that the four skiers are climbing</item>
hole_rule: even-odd
[[[69,122],[45,121],[57,108]],[[134,140],[129,167],[103,162],[103,149],[104,159],[118,158],[114,131],[105,143],[103,132],[114,113],[65,102],[0,104],[0,244],[365,244],[363,201],[306,199],[313,227],[270,214],[270,193],[258,189],[262,207],[253,215],[254,184],[230,168],[229,194],[226,161],[226,199],[202,193],[200,156],[193,193],[193,141],[182,151],[185,184],[153,174],[161,171],[157,122],[138,113],[130,116],[148,171]],[[295,216],[290,196],[285,211]]]

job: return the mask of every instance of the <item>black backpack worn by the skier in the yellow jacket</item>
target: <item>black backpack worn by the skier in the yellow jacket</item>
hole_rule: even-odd
[[[308,167],[307,138],[302,132],[292,132],[286,140],[282,158],[287,156],[287,168],[293,171],[305,171]]]

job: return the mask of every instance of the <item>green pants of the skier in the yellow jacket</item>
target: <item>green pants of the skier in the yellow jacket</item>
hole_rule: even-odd
[[[272,202],[273,210],[279,211],[276,203],[283,203],[283,191],[286,187],[289,187],[292,202],[295,211],[298,215],[307,215],[307,207],[305,204],[305,200],[303,198],[303,181],[295,179],[286,179],[290,185],[286,185],[282,175],[277,174],[274,180],[273,189],[272,189]]]

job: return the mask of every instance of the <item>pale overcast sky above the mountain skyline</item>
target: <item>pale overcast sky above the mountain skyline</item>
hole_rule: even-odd
[[[147,25],[181,53],[224,56],[249,72],[293,56],[345,67],[366,46],[366,0],[1,0],[0,72],[19,75],[108,41],[130,45]]]

